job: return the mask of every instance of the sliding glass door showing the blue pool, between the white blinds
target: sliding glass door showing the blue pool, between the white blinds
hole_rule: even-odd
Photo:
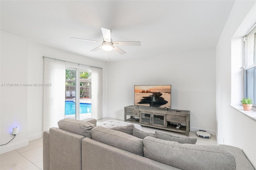
[[[91,71],[66,68],[65,118],[92,117]]]

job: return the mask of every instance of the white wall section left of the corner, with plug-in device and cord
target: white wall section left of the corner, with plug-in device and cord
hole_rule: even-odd
[[[1,143],[12,138],[12,128],[19,127],[19,133],[10,144],[0,146],[0,154],[28,145],[27,87],[20,83],[27,81],[27,40],[1,31]],[[10,84],[18,86],[10,87]]]

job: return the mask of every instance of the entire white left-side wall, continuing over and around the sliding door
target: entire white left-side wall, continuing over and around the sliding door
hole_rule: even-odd
[[[106,63],[76,55],[1,31],[1,83],[43,83],[43,56],[103,68],[103,117],[106,117]],[[1,87],[1,144],[10,129],[19,126],[16,138],[1,153],[26,146],[42,137],[43,87]]]

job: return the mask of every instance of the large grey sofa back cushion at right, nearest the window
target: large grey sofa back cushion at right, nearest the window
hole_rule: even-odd
[[[147,136],[144,156],[182,170],[235,170],[234,156],[218,145],[180,144]]]

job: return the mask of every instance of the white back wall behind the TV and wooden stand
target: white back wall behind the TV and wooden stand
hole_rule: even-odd
[[[108,63],[108,117],[124,119],[134,85],[172,85],[172,109],[190,111],[191,131],[215,134],[215,50],[169,53]]]

